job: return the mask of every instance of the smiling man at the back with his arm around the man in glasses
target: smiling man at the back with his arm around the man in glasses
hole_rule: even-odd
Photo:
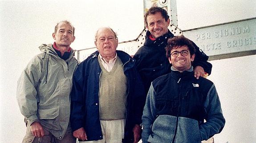
[[[144,17],[146,32],[146,41],[134,55],[136,68],[142,78],[146,93],[151,82],[171,71],[171,65],[165,57],[165,47],[167,39],[174,35],[168,30],[170,25],[169,15],[166,10],[159,7],[150,8]],[[211,74],[211,63],[207,62],[208,56],[199,50],[199,47],[193,43],[196,48],[196,58],[193,62],[194,75],[204,76],[205,73]]]

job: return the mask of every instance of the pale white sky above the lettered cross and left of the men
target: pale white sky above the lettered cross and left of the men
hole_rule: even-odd
[[[177,0],[182,30],[256,17],[256,0]],[[20,143],[25,134],[16,102],[16,82],[42,43],[53,43],[57,22],[76,28],[71,47],[94,46],[99,27],[109,26],[119,42],[142,29],[143,0],[0,0],[0,142]],[[255,59],[255,56],[252,56]],[[254,64],[255,69],[255,64]]]

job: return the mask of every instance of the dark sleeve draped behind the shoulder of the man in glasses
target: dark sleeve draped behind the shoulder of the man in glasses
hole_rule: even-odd
[[[198,46],[196,46],[196,44],[191,41],[193,43],[193,45],[195,46],[195,60],[194,62],[192,63],[192,66],[194,66],[194,68],[196,66],[202,66],[203,67],[203,70],[208,73],[208,75],[211,74],[211,68],[212,68],[212,65],[210,62],[207,62],[208,60],[208,56],[203,53],[202,50],[199,49]]]

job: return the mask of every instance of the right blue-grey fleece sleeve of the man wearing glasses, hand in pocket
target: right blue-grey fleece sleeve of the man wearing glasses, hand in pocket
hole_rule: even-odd
[[[207,140],[213,135],[220,133],[225,124],[218,93],[214,84],[211,86],[211,89],[207,94],[204,108],[207,116],[205,119],[206,122],[199,125],[201,140]]]

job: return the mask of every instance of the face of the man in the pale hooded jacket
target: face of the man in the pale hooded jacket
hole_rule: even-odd
[[[56,46],[69,47],[70,44],[75,40],[75,36],[73,35],[73,27],[68,23],[59,23],[57,31],[53,33],[53,39],[55,40]]]

